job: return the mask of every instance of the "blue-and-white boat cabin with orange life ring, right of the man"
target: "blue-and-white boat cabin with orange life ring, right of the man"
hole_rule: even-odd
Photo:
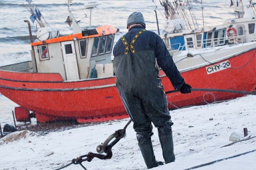
[[[171,21],[169,21],[171,22]],[[175,22],[175,21],[173,21]],[[162,36],[166,47],[171,53],[180,50],[202,49],[223,45],[249,43],[256,40],[256,19],[251,15],[243,18],[230,19],[225,24],[214,27],[182,30],[182,28],[167,28],[173,30]],[[175,24],[169,24],[175,25]]]

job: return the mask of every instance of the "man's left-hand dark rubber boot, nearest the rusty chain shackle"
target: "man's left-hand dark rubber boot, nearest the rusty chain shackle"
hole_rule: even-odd
[[[143,143],[139,143],[141,154],[144,158],[145,164],[147,165],[147,168],[154,168],[158,166],[158,162],[156,160],[153,145],[151,142],[151,138],[148,138]]]

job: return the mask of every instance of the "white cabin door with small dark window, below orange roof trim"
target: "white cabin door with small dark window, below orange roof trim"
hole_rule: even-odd
[[[61,43],[67,80],[79,80],[74,41]]]

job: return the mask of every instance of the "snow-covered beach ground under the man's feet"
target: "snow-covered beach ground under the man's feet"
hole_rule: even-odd
[[[187,169],[256,149],[256,138],[239,141],[223,147],[231,133],[244,137],[256,135],[256,96],[245,96],[218,104],[195,106],[171,111],[176,162],[154,169]],[[13,132],[0,139],[0,169],[57,169],[73,158],[97,153],[96,147],[118,129],[123,129],[129,119],[111,121],[84,128],[39,135],[35,132]],[[157,129],[152,137],[157,160],[163,161]],[[12,141],[13,140],[13,141]],[[83,162],[88,170],[95,169],[147,169],[141,156],[132,123],[126,137],[112,149],[113,157],[107,160],[94,158]],[[223,160],[196,169],[256,169],[256,151]],[[63,169],[83,169],[72,164]]]

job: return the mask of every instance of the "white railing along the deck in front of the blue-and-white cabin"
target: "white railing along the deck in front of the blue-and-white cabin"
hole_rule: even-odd
[[[167,49],[169,49],[169,52],[174,56],[175,54],[178,54],[178,52],[183,50],[187,50],[189,53],[189,51],[192,49],[202,49],[205,52],[205,50],[209,48],[213,48],[214,50],[217,50],[219,48],[216,48],[216,47],[224,46],[224,45],[232,45],[232,44],[242,44],[243,46],[245,43],[249,43],[252,41],[256,41],[256,35],[254,33],[250,35],[241,35],[241,36],[233,36],[233,37],[192,40],[192,41],[187,41],[187,43],[185,42],[184,45],[181,45],[181,43],[175,43],[167,46]]]

